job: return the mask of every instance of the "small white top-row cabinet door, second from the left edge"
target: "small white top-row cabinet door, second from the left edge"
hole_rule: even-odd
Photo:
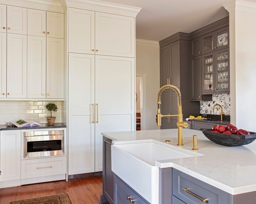
[[[7,6],[7,33],[27,34],[27,8]]]

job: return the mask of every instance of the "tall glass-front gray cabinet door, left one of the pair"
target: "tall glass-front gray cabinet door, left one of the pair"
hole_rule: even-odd
[[[214,69],[214,53],[209,55],[203,55],[202,57],[202,92],[209,93],[214,92],[214,78],[215,78],[215,69]]]

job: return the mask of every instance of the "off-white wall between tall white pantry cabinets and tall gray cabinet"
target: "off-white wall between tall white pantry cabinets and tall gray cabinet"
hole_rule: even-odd
[[[143,130],[160,129],[156,126],[157,93],[160,88],[159,43],[156,41],[136,40],[136,73],[145,74],[145,101],[142,117]]]

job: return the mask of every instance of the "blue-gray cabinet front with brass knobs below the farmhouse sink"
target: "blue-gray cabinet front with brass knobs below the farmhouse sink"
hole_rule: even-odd
[[[114,175],[114,204],[149,204]]]

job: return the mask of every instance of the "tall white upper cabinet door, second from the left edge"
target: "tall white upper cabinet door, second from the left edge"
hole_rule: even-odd
[[[27,36],[7,34],[7,98],[27,97]]]

